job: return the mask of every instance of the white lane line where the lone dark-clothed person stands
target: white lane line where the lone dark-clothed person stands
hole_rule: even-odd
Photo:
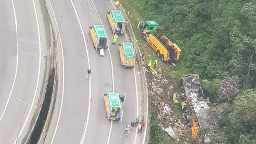
[[[88,48],[87,48],[87,44],[86,44],[86,38],[85,38],[85,33],[84,33],[84,29],[82,27],[82,24],[81,24],[81,21],[79,19],[79,16],[78,16],[78,13],[77,13],[77,10],[75,8],[75,5],[73,3],[72,0],[70,0],[71,4],[72,4],[72,7],[75,11],[75,14],[76,14],[76,17],[77,17],[77,21],[78,21],[78,24],[79,24],[79,27],[80,27],[80,31],[82,33],[82,36],[83,36],[83,39],[84,39],[84,44],[85,44],[85,49],[86,49],[86,53],[87,53],[87,61],[88,61],[88,69],[91,69],[90,67],[90,58],[89,58],[89,52],[88,52]],[[91,98],[92,98],[92,94],[91,94],[91,90],[92,90],[92,86],[91,86],[91,75],[89,75],[89,104],[88,104],[88,112],[87,112],[87,119],[85,121],[85,127],[84,127],[84,130],[83,130],[83,135],[82,135],[82,138],[80,140],[80,144],[83,144],[84,143],[84,140],[85,140],[85,134],[86,134],[86,131],[87,131],[87,127],[88,127],[88,122],[89,122],[89,116],[90,116],[90,109],[91,109]]]

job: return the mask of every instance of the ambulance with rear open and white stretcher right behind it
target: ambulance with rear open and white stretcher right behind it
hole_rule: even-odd
[[[93,47],[99,50],[100,56],[104,56],[104,51],[109,49],[109,39],[101,24],[93,24],[89,27],[89,35],[93,41]]]

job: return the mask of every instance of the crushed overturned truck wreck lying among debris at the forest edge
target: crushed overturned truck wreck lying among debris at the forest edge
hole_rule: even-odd
[[[191,119],[191,137],[198,138],[198,131],[206,127],[210,102],[204,99],[204,92],[200,85],[199,75],[184,75],[181,77],[186,103]]]

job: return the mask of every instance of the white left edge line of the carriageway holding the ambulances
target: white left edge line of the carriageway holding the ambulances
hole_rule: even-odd
[[[61,48],[61,58],[62,58],[62,90],[61,90],[62,94],[61,94],[61,102],[60,102],[60,109],[59,109],[57,124],[56,124],[55,130],[53,132],[53,136],[52,136],[51,143],[50,143],[50,144],[52,144],[53,140],[54,140],[54,137],[56,135],[57,129],[58,129],[59,120],[60,120],[60,116],[61,116],[61,112],[62,112],[63,99],[64,99],[64,86],[65,86],[65,67],[64,67],[63,46],[62,46],[61,36],[60,36],[60,33],[59,33],[58,23],[57,23],[56,16],[55,16],[55,13],[53,11],[53,8],[51,6],[51,2],[50,2],[50,0],[48,0],[48,1],[49,1],[49,6],[50,6],[50,9],[51,9],[51,12],[53,14],[55,25],[56,25],[56,28],[57,28],[57,34],[58,34],[57,36],[59,37],[59,43],[60,43],[60,48]],[[62,15],[62,17],[63,17],[63,15]],[[57,43],[57,41],[56,41],[56,43]]]

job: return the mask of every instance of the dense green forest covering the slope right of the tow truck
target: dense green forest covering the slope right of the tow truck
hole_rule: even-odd
[[[179,65],[204,80],[215,105],[206,129],[211,143],[256,144],[256,1],[133,2],[181,47]]]

